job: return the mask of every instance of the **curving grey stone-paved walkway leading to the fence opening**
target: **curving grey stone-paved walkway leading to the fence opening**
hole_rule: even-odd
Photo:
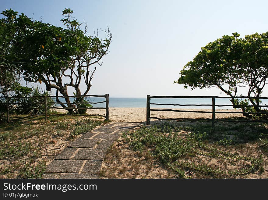
[[[43,178],[98,178],[107,149],[142,123],[116,122],[94,129],[69,143],[47,166]]]

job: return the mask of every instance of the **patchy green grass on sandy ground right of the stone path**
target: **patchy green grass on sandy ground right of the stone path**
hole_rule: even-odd
[[[256,122],[218,124],[215,128],[206,122],[141,127],[123,134],[110,148],[104,162],[108,167],[101,169],[100,176],[268,178],[267,133],[267,124]],[[127,159],[128,155],[135,159]],[[158,170],[157,176],[148,170],[150,164],[151,169]],[[163,177],[160,173],[164,170]]]

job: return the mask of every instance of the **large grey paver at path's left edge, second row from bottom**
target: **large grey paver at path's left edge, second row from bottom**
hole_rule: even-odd
[[[83,162],[83,160],[52,160],[46,172],[78,173]]]

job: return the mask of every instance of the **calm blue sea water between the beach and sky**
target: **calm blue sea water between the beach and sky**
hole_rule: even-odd
[[[62,102],[64,99],[60,98]],[[70,99],[73,101],[73,98]],[[90,97],[90,102],[102,102],[105,98]],[[211,98],[153,98],[150,103],[161,104],[212,104]],[[216,105],[231,105],[229,99],[215,98]],[[263,105],[268,105],[268,100],[263,99]],[[105,107],[105,103],[92,104],[93,107]],[[110,108],[146,108],[146,98],[109,98]],[[187,108],[187,109],[211,109],[212,106],[174,106],[174,105],[150,105],[151,108]],[[268,107],[268,106],[267,106]],[[216,109],[233,109],[231,106],[216,107]],[[267,108],[266,108],[267,109]]]

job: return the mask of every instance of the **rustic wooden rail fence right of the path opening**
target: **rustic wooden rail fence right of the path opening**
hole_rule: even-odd
[[[150,103],[150,99],[152,98],[211,98],[212,104],[161,104],[161,103]],[[183,112],[183,113],[212,113],[212,127],[214,127],[215,123],[215,113],[249,113],[249,114],[259,114],[256,112],[228,112],[228,111],[215,111],[215,107],[225,107],[225,106],[233,106],[231,105],[216,105],[215,98],[252,98],[252,99],[268,99],[268,97],[248,97],[248,96],[238,96],[238,97],[219,97],[219,96],[150,96],[147,95],[147,102],[146,102],[146,124],[150,124],[150,119],[157,119],[157,120],[182,120],[186,118],[158,118],[158,117],[151,117],[150,111],[172,111],[172,112]],[[174,105],[174,106],[212,106],[212,111],[198,111],[198,110],[175,110],[175,109],[150,109],[150,105]],[[243,105],[244,107],[254,107],[254,105]],[[258,107],[268,107],[268,105],[259,105]],[[187,118],[189,119],[189,118]],[[192,118],[191,118],[192,119]]]

